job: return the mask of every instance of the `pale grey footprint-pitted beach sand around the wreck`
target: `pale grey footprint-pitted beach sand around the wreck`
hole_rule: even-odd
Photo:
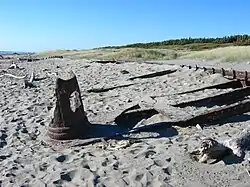
[[[1,69],[8,65],[0,62],[0,75]],[[97,124],[109,124],[129,105],[150,102],[149,96],[165,95],[156,100],[167,105],[229,91],[211,89],[174,95],[226,82],[221,75],[170,65],[97,64],[69,59],[19,65],[25,70],[8,70],[8,73],[22,76],[34,71],[38,77],[49,78],[35,82],[38,87],[30,89],[23,87],[23,80],[9,77],[0,80],[0,186],[249,186],[247,161],[236,163],[228,159],[207,165],[194,162],[188,154],[204,136],[216,139],[234,136],[248,125],[247,114],[203,130],[173,127],[162,132],[134,134],[131,137],[140,142],[117,151],[103,150],[97,145],[56,148],[47,141],[46,127],[55,105],[56,76],[52,73],[74,71],[87,116],[91,123]],[[170,75],[127,81],[131,76],[175,68],[178,71]],[[122,74],[122,70],[129,73]],[[123,83],[136,84],[104,93],[87,93],[90,88]],[[187,107],[183,111],[196,114],[206,109]],[[177,111],[170,112],[180,116]],[[144,124],[165,120],[158,114]]]

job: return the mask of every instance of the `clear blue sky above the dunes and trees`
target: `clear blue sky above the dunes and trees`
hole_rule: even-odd
[[[1,0],[0,50],[250,34],[249,0]]]

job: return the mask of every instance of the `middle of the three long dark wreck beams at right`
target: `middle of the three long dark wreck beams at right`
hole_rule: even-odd
[[[245,87],[203,99],[178,103],[173,106],[183,108],[186,106],[204,106],[211,103],[215,105],[231,104],[243,100],[248,95],[250,95],[250,87]]]

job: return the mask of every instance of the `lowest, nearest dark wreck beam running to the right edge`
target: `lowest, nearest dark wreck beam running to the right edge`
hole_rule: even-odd
[[[173,126],[188,127],[196,124],[209,124],[229,117],[237,116],[250,111],[250,100],[208,110],[202,114],[190,117],[185,120],[171,122]],[[163,114],[164,115],[164,114]]]

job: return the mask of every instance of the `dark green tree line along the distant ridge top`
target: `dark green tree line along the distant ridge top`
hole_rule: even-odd
[[[162,42],[149,42],[149,43],[135,43],[125,46],[108,46],[105,48],[161,48],[164,46],[173,46],[173,45],[187,45],[187,44],[232,44],[232,45],[250,45],[250,35],[232,35],[225,36],[221,38],[182,38],[174,40],[166,40]]]

